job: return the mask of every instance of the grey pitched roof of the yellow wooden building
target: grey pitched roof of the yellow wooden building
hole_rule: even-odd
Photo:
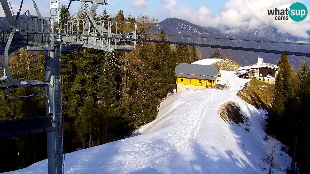
[[[175,67],[177,77],[216,80],[219,68],[212,65],[180,63]]]

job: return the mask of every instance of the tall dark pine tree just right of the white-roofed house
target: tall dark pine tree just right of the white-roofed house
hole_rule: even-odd
[[[296,99],[292,85],[292,70],[286,55],[281,55],[279,73],[275,80],[272,109],[266,119],[268,133],[276,135],[284,143],[293,143],[296,125]],[[285,127],[283,131],[281,128]],[[289,144],[292,145],[292,144]]]

